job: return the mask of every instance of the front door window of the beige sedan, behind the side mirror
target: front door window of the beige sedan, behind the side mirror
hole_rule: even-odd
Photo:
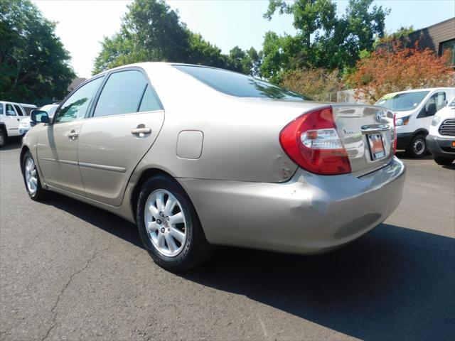
[[[54,123],[69,122],[83,119],[93,96],[97,92],[104,77],[92,80],[77,89],[55,113]]]

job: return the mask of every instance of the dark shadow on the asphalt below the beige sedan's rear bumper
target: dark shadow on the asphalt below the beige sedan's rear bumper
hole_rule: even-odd
[[[220,248],[183,277],[363,340],[453,340],[454,259],[455,239],[382,224],[319,256]]]

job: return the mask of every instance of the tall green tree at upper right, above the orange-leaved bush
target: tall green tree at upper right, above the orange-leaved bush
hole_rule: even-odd
[[[373,50],[375,38],[385,33],[382,6],[373,0],[349,0],[346,13],[336,16],[331,0],[269,0],[265,18],[275,12],[294,17],[295,36],[266,33],[261,72],[279,81],[282,72],[309,67],[343,70],[353,67],[361,50]]]

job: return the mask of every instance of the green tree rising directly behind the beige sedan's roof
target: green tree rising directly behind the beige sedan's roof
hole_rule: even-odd
[[[122,18],[120,31],[102,41],[94,73],[145,61],[166,61],[224,67],[242,73],[259,71],[254,48],[238,46],[229,55],[188,29],[163,0],[135,0]]]

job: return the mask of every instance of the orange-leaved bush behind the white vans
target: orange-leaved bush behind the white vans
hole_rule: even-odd
[[[454,75],[447,67],[449,58],[449,53],[438,57],[432,50],[421,50],[418,43],[414,48],[393,43],[359,60],[348,82],[355,88],[355,97],[370,103],[390,92],[454,86]]]

